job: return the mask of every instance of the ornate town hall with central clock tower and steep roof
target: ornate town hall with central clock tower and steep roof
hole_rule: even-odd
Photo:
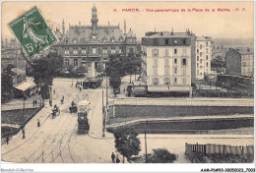
[[[110,54],[128,55],[130,52],[137,53],[138,46],[136,35],[132,29],[126,33],[126,22],[124,31],[120,26],[99,26],[96,6],[92,9],[91,26],[70,26],[65,32],[65,23],[61,35],[60,30],[56,30],[60,39],[55,44],[59,53],[64,58],[64,66],[85,66],[88,69],[88,78],[96,78],[97,67],[108,62]]]

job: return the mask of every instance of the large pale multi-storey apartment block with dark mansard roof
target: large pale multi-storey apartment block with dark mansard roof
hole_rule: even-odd
[[[157,32],[142,38],[142,80],[148,92],[191,95],[191,37],[187,32]]]

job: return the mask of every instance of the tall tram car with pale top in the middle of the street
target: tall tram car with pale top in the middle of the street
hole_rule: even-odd
[[[88,134],[90,130],[88,113],[91,102],[82,100],[78,103],[78,134]]]

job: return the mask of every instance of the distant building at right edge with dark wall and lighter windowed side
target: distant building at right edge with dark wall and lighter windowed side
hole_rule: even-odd
[[[254,52],[250,48],[229,48],[225,53],[225,73],[232,76],[253,77]]]

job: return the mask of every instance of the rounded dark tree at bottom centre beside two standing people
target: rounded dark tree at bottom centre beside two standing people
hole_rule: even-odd
[[[138,135],[137,131],[128,128],[119,129],[114,133],[115,148],[128,160],[132,155],[137,155],[141,151],[141,142],[137,138]]]

